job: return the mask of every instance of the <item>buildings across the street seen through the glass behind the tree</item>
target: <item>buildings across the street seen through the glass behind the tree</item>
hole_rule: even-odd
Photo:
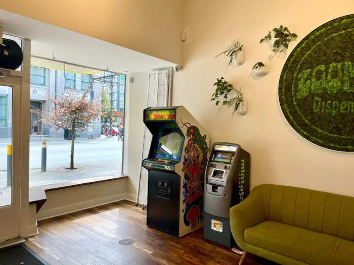
[[[94,79],[94,82],[92,82]],[[91,86],[90,98],[94,98],[99,94],[103,105],[108,104],[108,109],[103,110],[101,117],[95,120],[93,127],[87,131],[77,133],[77,137],[100,137],[103,133],[105,124],[112,122],[113,127],[124,126],[124,87],[125,75],[99,72],[94,74],[76,74],[73,72],[64,72],[39,66],[31,66],[31,86],[30,86],[30,107],[31,110],[40,110],[41,112],[48,112],[52,107],[49,101],[50,97],[60,96],[63,91],[70,90],[74,93],[83,93]],[[6,94],[0,87],[0,116],[2,113],[2,100],[5,102]],[[107,97],[102,96],[102,90],[106,91]],[[5,91],[5,90],[4,90]],[[104,101],[108,102],[104,102]],[[11,108],[10,108],[11,109]],[[110,114],[112,109],[112,121],[110,121]],[[4,114],[5,115],[5,114]],[[6,134],[6,129],[2,127],[0,117],[0,133]],[[11,126],[11,119],[5,123],[5,127]],[[35,113],[31,113],[30,122],[31,135],[46,135],[49,137],[64,137],[64,130],[55,130],[50,128],[44,122],[41,122]]]

